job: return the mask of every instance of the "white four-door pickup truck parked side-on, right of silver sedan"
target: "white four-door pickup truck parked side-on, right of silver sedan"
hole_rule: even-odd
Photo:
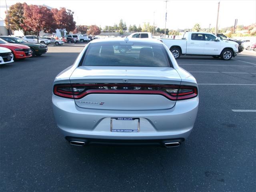
[[[220,40],[211,33],[186,32],[182,39],[160,39],[172,52],[174,58],[180,55],[207,55],[230,60],[238,53],[238,43]]]

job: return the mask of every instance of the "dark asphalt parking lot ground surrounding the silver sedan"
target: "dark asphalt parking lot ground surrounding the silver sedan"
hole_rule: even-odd
[[[255,52],[177,60],[196,77],[200,96],[182,146],[76,147],[58,131],[51,96],[55,76],[83,47],[49,46],[0,66],[1,191],[255,191]]]

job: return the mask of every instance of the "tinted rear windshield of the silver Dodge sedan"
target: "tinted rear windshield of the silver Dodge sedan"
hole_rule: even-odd
[[[86,50],[82,66],[170,67],[162,44],[146,42],[98,42]]]

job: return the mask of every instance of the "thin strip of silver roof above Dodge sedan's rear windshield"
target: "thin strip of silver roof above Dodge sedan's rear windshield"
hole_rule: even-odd
[[[157,43],[157,44],[162,44],[160,40],[155,39],[155,38],[104,38],[104,39],[95,39],[90,43],[97,43],[97,42],[146,42],[146,43]]]

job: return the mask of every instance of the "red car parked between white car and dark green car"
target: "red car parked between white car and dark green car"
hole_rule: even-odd
[[[5,47],[12,50],[14,59],[25,59],[32,56],[32,52],[29,46],[8,43],[7,41],[0,38],[0,47]]]

